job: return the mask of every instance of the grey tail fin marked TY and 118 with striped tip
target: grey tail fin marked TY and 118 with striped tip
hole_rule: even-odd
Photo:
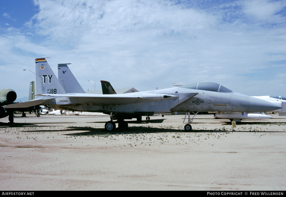
[[[66,94],[45,58],[37,58],[36,94]]]

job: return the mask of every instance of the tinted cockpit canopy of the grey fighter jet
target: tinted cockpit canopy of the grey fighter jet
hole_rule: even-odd
[[[222,86],[218,83],[213,83],[213,82],[193,83],[189,85],[182,85],[180,87],[188,88],[188,89],[206,90],[206,91],[212,91],[212,92],[225,92],[225,93],[233,92],[232,90],[226,88],[225,86]]]

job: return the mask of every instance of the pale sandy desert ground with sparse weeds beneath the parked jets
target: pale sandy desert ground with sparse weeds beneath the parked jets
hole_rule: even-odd
[[[0,190],[285,190],[286,117],[15,115],[0,119]],[[143,119],[145,117],[142,117]],[[117,126],[117,125],[116,125]]]

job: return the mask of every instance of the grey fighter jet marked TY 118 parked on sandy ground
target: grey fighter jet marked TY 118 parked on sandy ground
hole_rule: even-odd
[[[281,107],[255,97],[236,93],[218,83],[194,83],[180,87],[126,94],[66,93],[45,58],[35,59],[36,99],[6,108],[45,104],[55,110],[103,112],[110,114],[105,129],[112,131],[116,125],[114,116],[120,114],[154,114],[167,112],[260,112],[277,110]],[[45,99],[47,98],[47,99]],[[189,123],[189,120],[188,120]],[[127,128],[126,121],[118,122],[121,129]],[[185,130],[191,130],[190,124]]]

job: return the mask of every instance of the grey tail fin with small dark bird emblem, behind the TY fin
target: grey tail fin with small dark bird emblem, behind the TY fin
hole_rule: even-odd
[[[63,89],[65,89],[67,93],[85,93],[84,89],[82,89],[82,86],[80,86],[78,80],[76,80],[76,77],[67,66],[68,64],[70,63],[58,64],[57,66],[59,82],[63,86]]]

